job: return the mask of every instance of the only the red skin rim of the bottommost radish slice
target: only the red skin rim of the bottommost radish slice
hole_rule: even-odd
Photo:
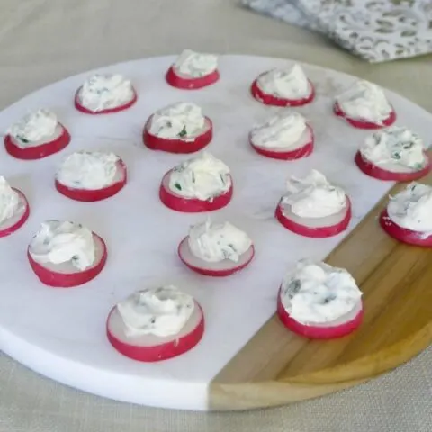
[[[108,320],[106,321],[106,335],[112,347],[114,347],[119,353],[133,360],[138,360],[139,362],[160,362],[162,360],[180,356],[195,347],[200,342],[204,333],[205,324],[202,308],[196,301],[195,307],[199,308],[201,313],[201,320],[199,320],[198,325],[184,336],[173,338],[165,343],[142,346],[133,345],[132,343],[128,344],[120,340],[120,338],[116,338],[110,329],[110,321],[112,320],[113,314],[116,313],[116,307],[112,308],[112,311],[108,315]]]

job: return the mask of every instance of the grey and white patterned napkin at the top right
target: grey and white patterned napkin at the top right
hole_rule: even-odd
[[[320,31],[371,63],[432,52],[432,0],[242,0]]]

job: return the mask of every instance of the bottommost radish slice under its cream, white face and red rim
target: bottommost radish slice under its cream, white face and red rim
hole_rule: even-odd
[[[192,316],[184,328],[177,335],[166,338],[154,335],[128,338],[124,333],[124,323],[117,307],[112,308],[106,321],[106,334],[112,347],[123,356],[139,362],[158,362],[180,356],[195,347],[203,333],[204,315],[196,301]]]

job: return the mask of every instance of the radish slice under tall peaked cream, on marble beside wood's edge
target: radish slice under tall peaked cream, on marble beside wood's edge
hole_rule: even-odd
[[[301,218],[291,211],[291,205],[279,202],[275,217],[286,229],[304,237],[327,238],[345,231],[351,220],[351,202],[346,195],[347,205],[336,214],[325,218]]]

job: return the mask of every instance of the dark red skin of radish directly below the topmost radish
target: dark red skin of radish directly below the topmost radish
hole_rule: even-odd
[[[166,151],[167,153],[177,154],[195,153],[196,151],[200,151],[202,148],[206,147],[213,138],[213,125],[208,117],[205,117],[206,129],[202,132],[202,135],[188,141],[185,139],[159,138],[156,135],[152,135],[148,131],[152,118],[153,116],[149,117],[142,133],[144,145],[151,150]]]

